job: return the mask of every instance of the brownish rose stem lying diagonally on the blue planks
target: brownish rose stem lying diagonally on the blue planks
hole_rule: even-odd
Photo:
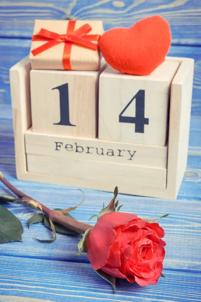
[[[44,204],[32,199],[30,196],[24,194],[23,192],[19,191],[17,188],[15,188],[0,172],[0,180],[5,184],[7,188],[9,188],[15,195],[17,195],[20,199],[19,203],[26,203],[31,207],[34,207],[35,209],[41,210],[46,216],[49,217],[54,222],[57,222],[63,226],[70,226],[71,228],[81,232],[84,234],[86,230],[92,229],[93,225],[86,224],[80,221],[77,221],[75,219],[72,219],[70,217],[67,217],[56,210],[51,210]]]

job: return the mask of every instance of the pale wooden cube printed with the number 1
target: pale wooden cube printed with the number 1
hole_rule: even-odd
[[[34,132],[97,136],[99,71],[31,70]]]

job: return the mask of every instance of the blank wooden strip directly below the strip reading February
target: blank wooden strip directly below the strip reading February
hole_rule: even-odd
[[[73,187],[78,183],[81,188],[96,188],[97,190],[108,191],[110,186],[115,187],[115,183],[117,183],[122,184],[120,192],[130,193],[133,190],[139,195],[139,186],[142,192],[143,189],[144,192],[147,190],[146,196],[150,196],[149,188],[165,189],[167,177],[167,169],[164,168],[32,154],[27,154],[27,171],[30,174],[30,179],[32,173],[38,174],[38,177],[43,174],[43,182],[49,183],[50,178],[48,176],[52,175],[55,177],[55,183],[59,183],[56,181],[57,176],[59,176],[61,184],[66,183],[66,185]],[[29,180],[29,175],[27,176]],[[23,178],[26,179],[26,176]],[[53,183],[54,180],[52,179],[50,182]],[[127,191],[129,187],[130,190]],[[135,188],[137,188],[136,191]]]

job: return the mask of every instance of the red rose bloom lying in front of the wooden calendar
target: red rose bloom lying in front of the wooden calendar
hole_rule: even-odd
[[[140,285],[157,284],[165,256],[164,230],[135,214],[109,212],[87,237],[91,266]]]

